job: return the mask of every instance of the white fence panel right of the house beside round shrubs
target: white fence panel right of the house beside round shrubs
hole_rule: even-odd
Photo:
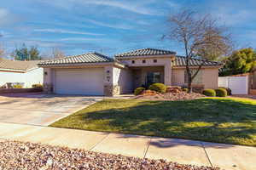
[[[248,76],[218,77],[218,87],[230,88],[232,94],[248,94]]]

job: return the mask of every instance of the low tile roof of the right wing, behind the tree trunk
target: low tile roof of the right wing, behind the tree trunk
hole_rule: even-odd
[[[190,66],[198,66],[204,62],[202,59],[190,59],[189,65]],[[217,61],[205,61],[203,65],[207,66],[214,66],[214,65],[222,65],[220,62]],[[186,57],[184,56],[176,56],[174,66],[186,66]]]

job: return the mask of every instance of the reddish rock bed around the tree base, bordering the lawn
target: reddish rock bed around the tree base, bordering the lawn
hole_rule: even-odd
[[[199,99],[206,97],[203,94],[197,93],[185,93],[185,92],[178,92],[178,93],[166,93],[166,94],[154,94],[154,95],[138,95],[135,96],[134,99],[149,99],[149,100],[186,100],[186,99]]]

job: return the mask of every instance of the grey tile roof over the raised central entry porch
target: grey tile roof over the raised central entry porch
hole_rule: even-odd
[[[163,49],[155,49],[155,48],[143,48],[137,49],[134,51],[115,54],[115,57],[134,57],[134,56],[142,56],[142,55],[164,55],[164,54],[176,54],[176,52],[163,50]]]

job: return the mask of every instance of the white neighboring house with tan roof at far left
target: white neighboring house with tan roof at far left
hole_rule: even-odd
[[[38,67],[39,62],[0,58],[0,87],[8,82],[20,83],[23,88],[31,88],[32,84],[43,84],[43,69]]]

